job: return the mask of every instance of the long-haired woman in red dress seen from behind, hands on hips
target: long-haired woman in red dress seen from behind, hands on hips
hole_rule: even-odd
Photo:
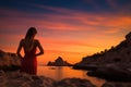
[[[39,41],[35,38],[37,30],[35,27],[28,28],[26,36],[24,39],[20,41],[17,48],[17,55],[22,58],[22,66],[21,72],[27,74],[36,74],[37,73],[37,59],[36,57],[44,54],[44,49],[40,46]],[[24,57],[22,57],[21,51],[24,49]],[[39,52],[36,52],[36,49],[39,49]]]

